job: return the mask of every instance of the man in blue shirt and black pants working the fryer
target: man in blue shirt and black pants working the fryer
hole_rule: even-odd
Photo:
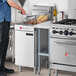
[[[12,0],[0,0],[0,76],[5,73],[14,73],[13,69],[5,68],[11,22],[11,7],[20,10],[22,15],[26,14],[25,10]]]

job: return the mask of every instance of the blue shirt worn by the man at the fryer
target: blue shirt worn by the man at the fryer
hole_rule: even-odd
[[[11,7],[6,0],[0,0],[0,22],[11,22]]]

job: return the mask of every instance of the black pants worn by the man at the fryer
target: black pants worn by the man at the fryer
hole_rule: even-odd
[[[10,22],[0,22],[0,68],[5,66],[5,58],[9,42]]]

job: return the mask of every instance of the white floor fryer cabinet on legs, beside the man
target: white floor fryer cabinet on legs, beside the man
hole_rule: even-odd
[[[37,67],[37,47],[35,39],[36,31],[33,25],[16,24],[15,25],[15,64],[21,66],[34,68]]]

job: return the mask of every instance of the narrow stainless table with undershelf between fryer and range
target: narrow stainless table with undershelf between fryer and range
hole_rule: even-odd
[[[48,70],[50,74],[50,67],[49,67],[49,31],[50,31],[51,21],[47,21],[41,24],[37,24],[34,26],[38,30],[38,74],[40,75],[41,71],[41,57],[48,57]],[[44,32],[43,32],[44,31]],[[47,31],[47,32],[46,32]],[[43,33],[42,33],[43,32]],[[42,37],[43,35],[43,37]],[[47,44],[46,49],[43,49],[45,47],[45,43]],[[42,48],[43,45],[43,48]]]

